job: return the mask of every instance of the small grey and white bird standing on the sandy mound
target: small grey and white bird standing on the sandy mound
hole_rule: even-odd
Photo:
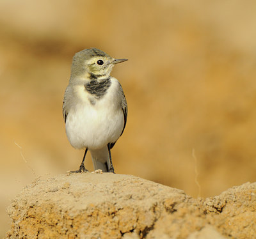
[[[115,173],[110,150],[124,132],[127,102],[120,82],[110,73],[124,61],[96,48],[81,50],[72,59],[63,118],[68,141],[85,151],[79,169],[70,173],[88,171],[84,167],[88,150],[95,170]]]

